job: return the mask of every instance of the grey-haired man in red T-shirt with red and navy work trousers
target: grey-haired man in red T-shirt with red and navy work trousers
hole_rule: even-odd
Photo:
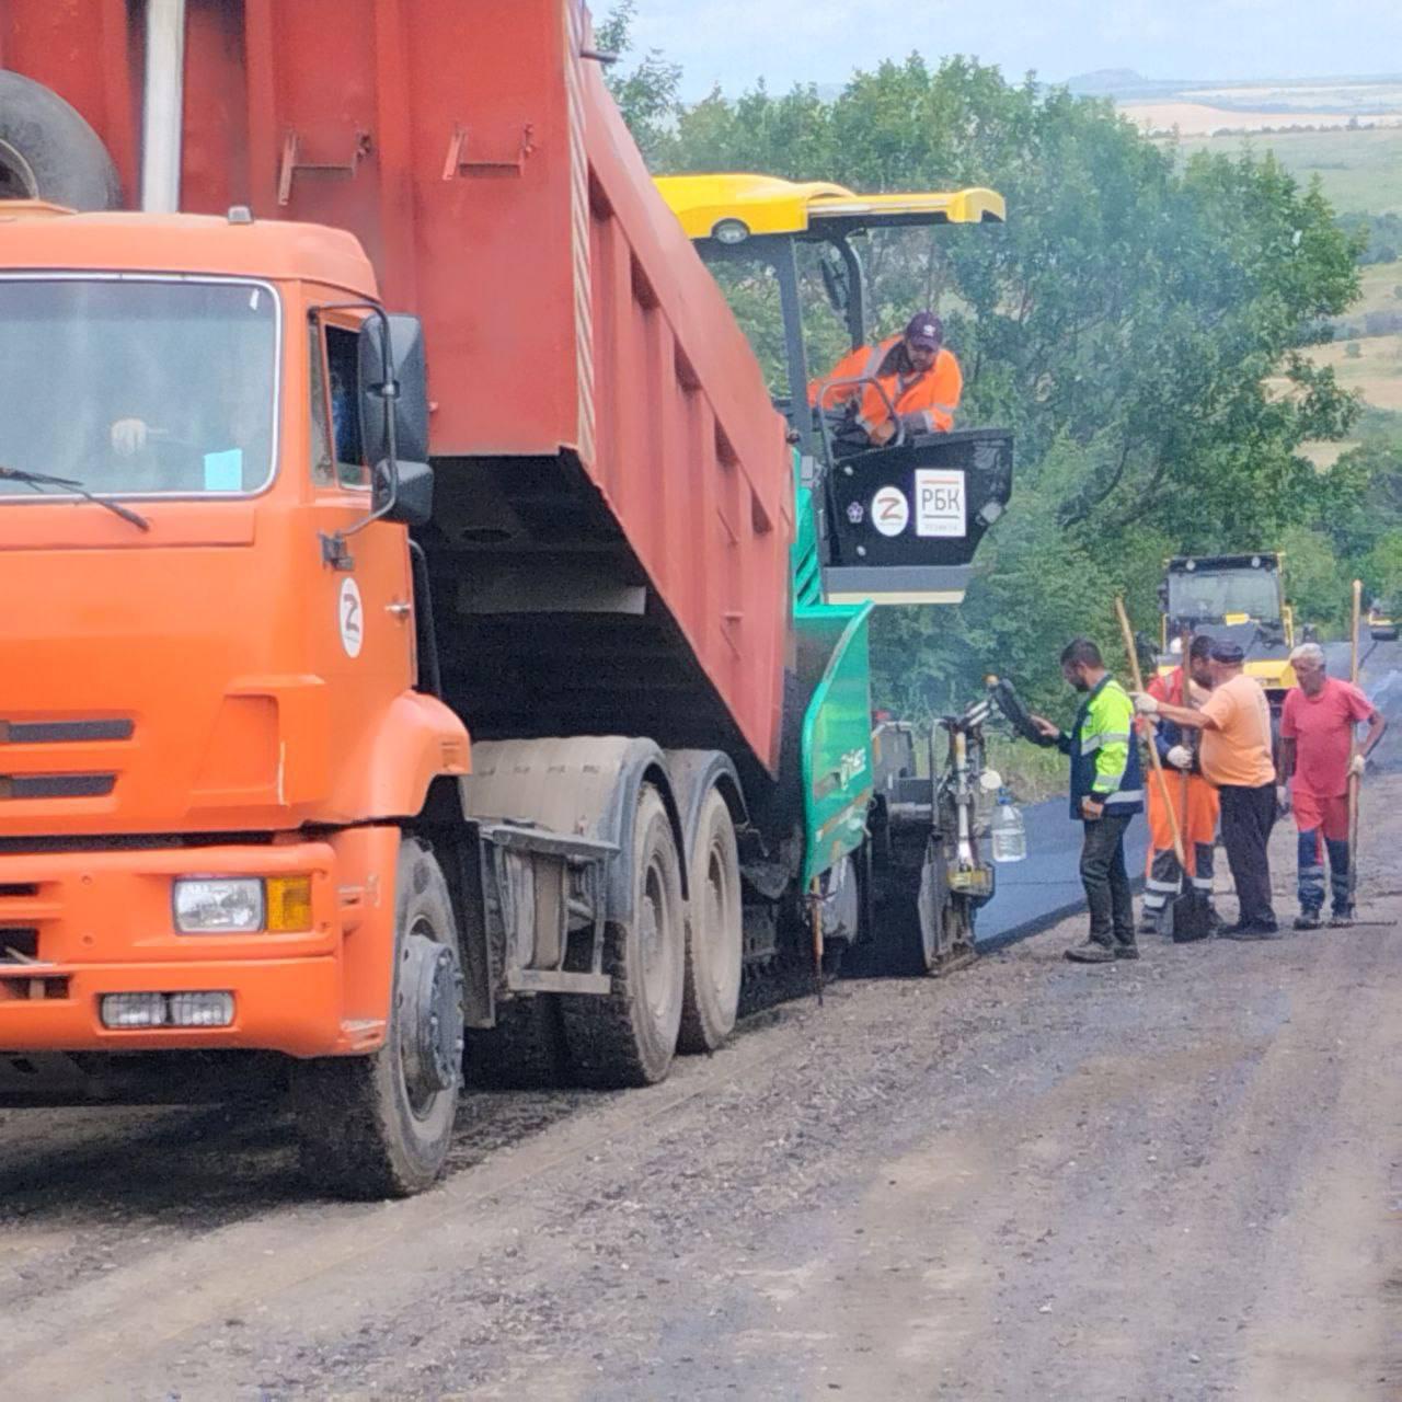
[[[1290,655],[1298,687],[1286,697],[1280,719],[1280,773],[1290,784],[1300,833],[1300,914],[1295,930],[1318,930],[1323,910],[1323,862],[1329,854],[1330,925],[1353,924],[1349,880],[1349,778],[1363,775],[1368,754],[1388,728],[1387,718],[1350,681],[1325,674],[1323,648],[1307,642]],[[1353,751],[1354,726],[1368,733]]]

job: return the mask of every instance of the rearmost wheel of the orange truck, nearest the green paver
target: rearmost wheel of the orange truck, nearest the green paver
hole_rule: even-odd
[[[735,1030],[744,939],[735,822],[716,789],[701,806],[688,872],[691,907],[677,1044],[683,1052],[714,1052]]]

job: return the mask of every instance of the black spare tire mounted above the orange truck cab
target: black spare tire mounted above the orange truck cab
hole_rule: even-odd
[[[116,167],[97,132],[42,83],[0,72],[0,199],[121,209]]]

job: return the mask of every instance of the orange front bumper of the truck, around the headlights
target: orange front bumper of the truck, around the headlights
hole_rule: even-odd
[[[171,882],[202,875],[308,875],[311,928],[175,934]],[[0,855],[0,1049],[372,1050],[383,1018],[345,1015],[343,937],[356,925],[345,893],[329,841]],[[233,994],[229,1026],[112,1029],[101,1021],[104,994],[200,991]]]

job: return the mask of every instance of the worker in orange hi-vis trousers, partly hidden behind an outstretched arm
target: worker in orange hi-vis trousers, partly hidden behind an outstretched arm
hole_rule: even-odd
[[[1158,701],[1166,701],[1169,705],[1195,708],[1202,705],[1211,690],[1213,677],[1209,666],[1211,649],[1211,638],[1193,638],[1187,648],[1187,658],[1173,672],[1150,681],[1150,695]],[[1151,744],[1158,747],[1159,758],[1164,761],[1165,787],[1173,812],[1178,815],[1183,855],[1187,858],[1187,876],[1193,886],[1211,901],[1213,848],[1217,841],[1220,808],[1217,789],[1202,775],[1192,730],[1164,719],[1159,721],[1157,729],[1151,729],[1148,739]],[[1187,775],[1186,785],[1182,778],[1185,774]],[[1183,872],[1179,869],[1178,855],[1173,851],[1173,830],[1168,822],[1168,805],[1164,802],[1164,789],[1157,781],[1148,785],[1148,871],[1144,879],[1141,934],[1151,934],[1159,928],[1164,907],[1183,886]]]

